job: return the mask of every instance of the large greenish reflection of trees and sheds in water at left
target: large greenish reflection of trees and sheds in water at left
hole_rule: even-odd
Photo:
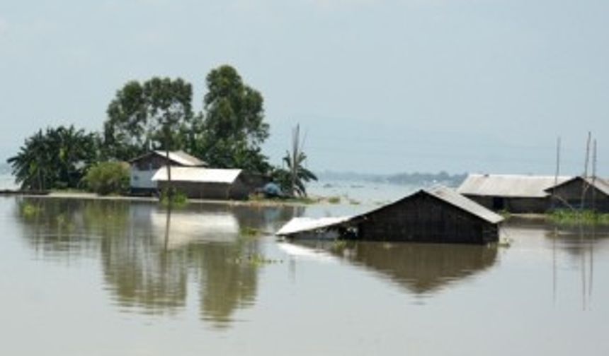
[[[166,210],[151,203],[23,198],[16,204],[23,236],[52,261],[101,255],[105,289],[121,311],[176,314],[199,296],[200,319],[226,328],[256,301],[258,239],[241,227],[273,230],[302,208]],[[41,253],[40,253],[41,252]]]

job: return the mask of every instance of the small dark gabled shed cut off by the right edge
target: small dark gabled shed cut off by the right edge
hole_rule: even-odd
[[[546,189],[554,208],[576,208],[609,212],[609,182],[601,178],[573,177]],[[582,203],[582,196],[584,203]]]

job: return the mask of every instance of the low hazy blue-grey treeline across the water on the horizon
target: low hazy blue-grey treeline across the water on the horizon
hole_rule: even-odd
[[[448,174],[447,172],[441,171],[438,173],[413,172],[396,174],[367,174],[357,172],[324,171],[318,172],[317,177],[319,177],[319,179],[322,181],[341,180],[352,182],[376,182],[417,186],[430,186],[433,184],[459,186],[463,182],[465,177],[467,177],[467,173]]]

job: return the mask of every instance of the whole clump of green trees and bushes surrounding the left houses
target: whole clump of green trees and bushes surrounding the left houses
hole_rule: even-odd
[[[203,107],[195,111],[193,86],[182,78],[129,81],[110,100],[101,132],[73,125],[40,129],[8,158],[12,174],[22,189],[81,188],[86,172],[102,162],[127,162],[150,150],[184,150],[209,167],[273,177],[292,193],[302,193],[295,183],[316,179],[304,167],[304,153],[287,152],[288,169],[268,161],[261,150],[269,136],[263,96],[236,69],[212,69],[205,85]]]

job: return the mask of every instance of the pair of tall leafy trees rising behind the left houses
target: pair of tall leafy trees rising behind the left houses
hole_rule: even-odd
[[[206,85],[203,111],[195,114],[192,85],[180,78],[125,84],[108,106],[103,145],[108,158],[182,149],[212,167],[268,172],[271,166],[261,152],[268,138],[261,93],[232,66],[210,71]]]

